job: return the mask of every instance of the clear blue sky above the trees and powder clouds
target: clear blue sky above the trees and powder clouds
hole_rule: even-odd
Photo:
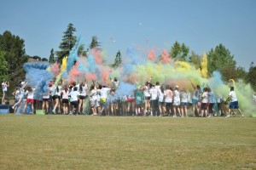
[[[49,58],[68,23],[89,46],[97,36],[113,57],[126,48],[166,48],[176,40],[197,54],[223,43],[247,70],[256,64],[254,0],[0,0],[0,33],[23,38],[26,54]],[[112,39],[111,39],[112,38]],[[113,42],[115,40],[115,42]]]

